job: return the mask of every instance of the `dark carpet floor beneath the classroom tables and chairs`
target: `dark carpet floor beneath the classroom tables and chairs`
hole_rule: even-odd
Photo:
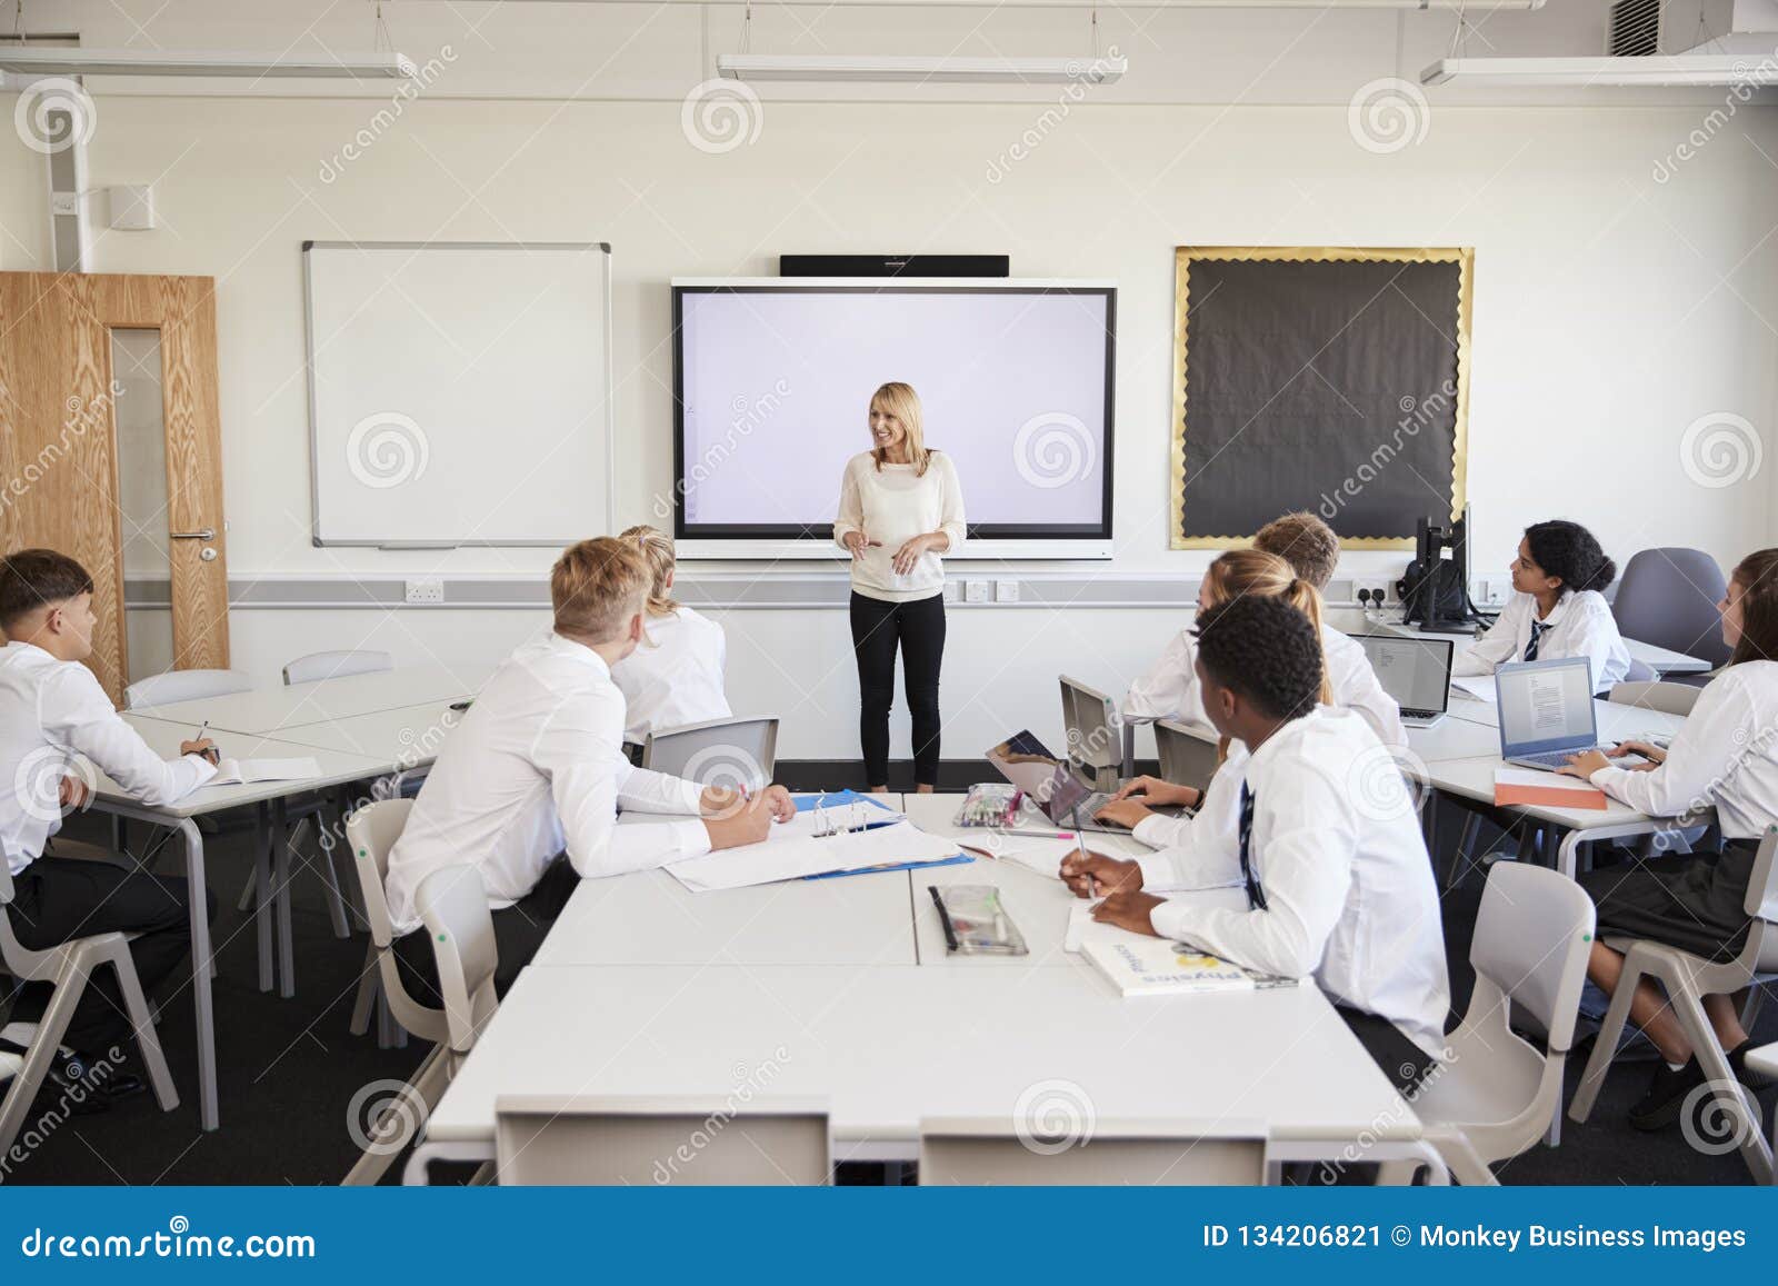
[[[71,832],[100,838],[96,818],[76,818]],[[363,934],[338,941],[313,873],[297,879],[297,996],[279,1000],[256,985],[252,921],[235,911],[247,872],[247,834],[215,836],[206,845],[210,880],[220,911],[215,980],[217,1057],[222,1129],[203,1133],[196,1119],[196,1055],[190,993],[162,998],[162,1044],[181,1105],[162,1113],[151,1094],[100,1115],[34,1119],[20,1151],[0,1158],[7,1183],[338,1183],[357,1160],[348,1128],[354,1096],[375,1081],[405,1080],[423,1055],[377,1049],[373,1037],[352,1037],[347,1019],[364,957]],[[178,859],[165,863],[178,872]],[[1472,975],[1469,936],[1481,880],[1446,900],[1454,1007],[1463,1010]],[[1757,1037],[1778,1041],[1778,998],[1766,1005]],[[1581,1073],[1570,1060],[1568,1089]],[[1705,1154],[1675,1126],[1645,1135],[1630,1129],[1625,1110],[1641,1096],[1646,1064],[1613,1069],[1593,1119],[1565,1122],[1561,1147],[1538,1145],[1499,1167],[1502,1183],[1748,1183],[1739,1154]],[[1774,1092],[1760,1096],[1766,1121]],[[25,1145],[28,1144],[28,1145]],[[398,1179],[400,1165],[391,1179]],[[843,1176],[857,1177],[857,1176]]]

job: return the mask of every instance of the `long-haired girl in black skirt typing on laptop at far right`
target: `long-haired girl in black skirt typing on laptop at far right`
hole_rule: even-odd
[[[1606,993],[1616,989],[1623,973],[1623,955],[1606,946],[1607,936],[1648,937],[1718,960],[1734,959],[1748,937],[1744,904],[1753,856],[1767,827],[1778,825],[1778,660],[1773,660],[1778,658],[1778,550],[1742,559],[1716,610],[1723,617],[1723,642],[1734,653],[1698,694],[1673,743],[1662,751],[1625,742],[1606,754],[1579,754],[1563,768],[1652,816],[1696,816],[1714,808],[1723,829],[1719,857],[1632,861],[1581,877],[1598,905],[1588,977]],[[1630,756],[1641,758],[1622,763]],[[1707,996],[1703,1009],[1730,1067],[1755,1081],[1746,1071],[1753,1042],[1741,1026],[1739,1007],[1730,996]],[[1705,1073],[1654,984],[1643,980],[1638,987],[1630,1021],[1666,1058],[1630,1110],[1630,1124],[1661,1129],[1680,1117]]]

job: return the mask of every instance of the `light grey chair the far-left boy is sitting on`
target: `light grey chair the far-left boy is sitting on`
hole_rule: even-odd
[[[155,1035],[155,1016],[142,994],[142,984],[135,977],[130,937],[126,934],[94,934],[75,937],[48,952],[32,952],[12,932],[12,918],[7,912],[12,893],[12,873],[0,861],[0,964],[5,964],[7,973],[20,982],[48,982],[53,984],[55,991],[50,996],[50,1007],[37,1023],[37,1033],[27,1046],[23,1058],[16,1060],[16,1073],[9,1080],[0,1076],[0,1083],[5,1085],[5,1097],[0,1099],[0,1156],[12,1147],[12,1140],[18,1138],[25,1117],[30,1113],[32,1099],[50,1073],[50,1060],[68,1032],[80,996],[92,982],[92,975],[105,966],[117,973],[117,991],[123,994],[124,1010],[135,1030],[135,1048],[142,1055],[142,1067],[155,1087],[160,1110],[172,1112],[180,1106],[180,1096],[172,1089],[172,1074],[160,1053],[160,1037]]]

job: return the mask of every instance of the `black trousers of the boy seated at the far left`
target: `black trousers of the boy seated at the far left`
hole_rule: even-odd
[[[130,943],[130,955],[146,996],[153,996],[156,984],[192,950],[190,889],[180,877],[132,872],[103,861],[39,857],[12,880],[16,896],[7,918],[18,941],[34,952],[94,934],[140,934]],[[215,895],[206,889],[206,914],[215,920]],[[25,1023],[43,1017],[52,991],[48,982],[27,982],[20,987],[12,1017]],[[92,1055],[126,1042],[130,1033],[130,1012],[123,1007],[117,978],[110,969],[100,969],[87,982],[62,1044]]]

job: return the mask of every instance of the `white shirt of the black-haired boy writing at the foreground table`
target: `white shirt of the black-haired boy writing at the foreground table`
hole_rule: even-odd
[[[1243,781],[1266,909],[1165,902],[1149,914],[1154,930],[1252,969],[1312,975],[1334,1001],[1444,1049],[1451,984],[1419,815],[1389,749],[1351,711],[1317,708],[1252,754],[1230,747],[1184,843],[1136,859],[1143,891],[1241,882]]]

